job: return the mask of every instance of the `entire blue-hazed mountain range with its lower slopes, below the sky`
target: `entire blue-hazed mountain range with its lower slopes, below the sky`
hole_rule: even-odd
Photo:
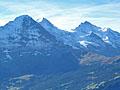
[[[113,90],[109,82],[120,82],[120,33],[88,21],[69,32],[16,17],[0,27],[0,57],[1,90]]]

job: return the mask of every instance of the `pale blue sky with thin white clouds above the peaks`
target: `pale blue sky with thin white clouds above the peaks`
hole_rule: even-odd
[[[0,0],[0,25],[23,14],[65,30],[89,21],[120,32],[120,0]]]

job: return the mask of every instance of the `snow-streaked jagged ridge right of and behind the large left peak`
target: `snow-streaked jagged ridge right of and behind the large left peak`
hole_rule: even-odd
[[[110,28],[101,28],[91,24],[88,21],[81,23],[73,32],[67,32],[58,29],[47,19],[43,19],[40,24],[52,35],[56,37],[58,41],[62,41],[64,44],[70,45],[76,48],[86,48],[88,51],[101,53],[103,55],[110,55],[108,52],[112,52],[111,55],[120,54],[120,33],[113,31]],[[94,50],[94,48],[96,48]],[[102,49],[99,51],[99,49]],[[106,52],[107,51],[107,52]]]

